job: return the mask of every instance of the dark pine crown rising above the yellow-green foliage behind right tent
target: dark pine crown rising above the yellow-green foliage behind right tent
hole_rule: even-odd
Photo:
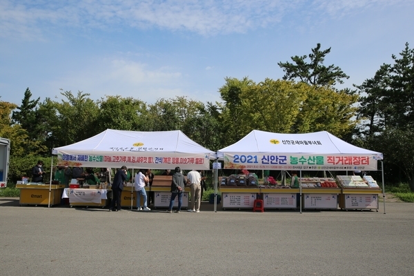
[[[317,43],[311,54],[290,57],[293,63],[288,61],[277,63],[285,72],[283,79],[302,81],[313,86],[335,86],[337,82],[344,83],[342,79],[348,79],[349,76],[341,68],[333,64],[330,66],[323,64],[331,48],[326,50],[320,50],[320,48],[321,44]],[[308,57],[309,61],[306,61]]]

